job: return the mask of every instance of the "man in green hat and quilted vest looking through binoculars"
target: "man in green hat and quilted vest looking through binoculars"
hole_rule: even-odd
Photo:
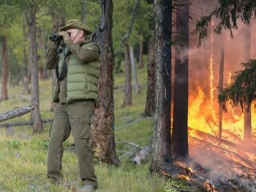
[[[62,42],[53,41],[46,57],[46,68],[55,70],[57,85],[53,102],[58,102],[50,127],[47,177],[50,182],[60,182],[62,170],[62,142],[72,132],[77,150],[81,191],[97,188],[90,142],[90,118],[94,102],[98,98],[98,75],[100,67],[99,47],[86,39],[91,34],[88,26],[77,19],[67,22],[59,29]]]

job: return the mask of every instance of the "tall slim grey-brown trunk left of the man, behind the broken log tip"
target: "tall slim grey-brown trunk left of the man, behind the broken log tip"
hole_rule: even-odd
[[[37,44],[36,44],[36,18],[35,18],[35,2],[31,1],[26,10],[26,21],[29,26],[29,42],[30,42],[30,66],[31,66],[31,103],[38,105],[32,112],[34,122],[34,133],[42,132],[42,120],[39,108],[39,85],[38,85],[38,60],[37,60]]]

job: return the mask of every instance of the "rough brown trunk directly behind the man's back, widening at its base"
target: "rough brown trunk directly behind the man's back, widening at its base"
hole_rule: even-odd
[[[113,2],[102,0],[101,22],[96,33],[96,40],[102,52],[101,73],[98,79],[98,106],[92,119],[92,142],[98,150],[98,158],[102,162],[118,166],[119,160],[114,142],[114,50],[112,40]]]

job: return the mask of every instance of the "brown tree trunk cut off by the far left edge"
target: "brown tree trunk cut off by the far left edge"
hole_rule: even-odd
[[[2,43],[2,93],[1,100],[8,100],[8,55],[7,55],[7,38],[6,35],[1,36]]]

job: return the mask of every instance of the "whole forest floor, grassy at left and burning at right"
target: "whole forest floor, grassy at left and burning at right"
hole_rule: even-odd
[[[98,192],[199,192],[199,191],[256,191],[255,150],[243,151],[214,141],[190,135],[190,160],[175,160],[182,167],[174,177],[150,175],[150,162],[137,166],[124,155],[134,146],[146,146],[153,137],[154,118],[144,118],[146,102],[146,68],[138,70],[140,94],[133,92],[133,105],[122,107],[124,74],[114,74],[115,141],[121,166],[108,166],[95,160]],[[40,110],[42,119],[50,119],[50,80],[40,81]],[[22,86],[10,87],[10,99],[0,102],[0,113],[30,104],[30,94]],[[2,122],[27,122],[30,114]],[[62,174],[59,186],[50,185],[46,178],[46,155],[50,123],[44,124],[42,134],[32,134],[31,126],[0,128],[0,191],[78,191],[77,158],[72,149],[73,138],[65,143]],[[136,152],[136,150],[134,150]],[[132,153],[131,153],[132,154]],[[72,187],[71,187],[72,186]],[[72,189],[70,189],[72,188]]]

